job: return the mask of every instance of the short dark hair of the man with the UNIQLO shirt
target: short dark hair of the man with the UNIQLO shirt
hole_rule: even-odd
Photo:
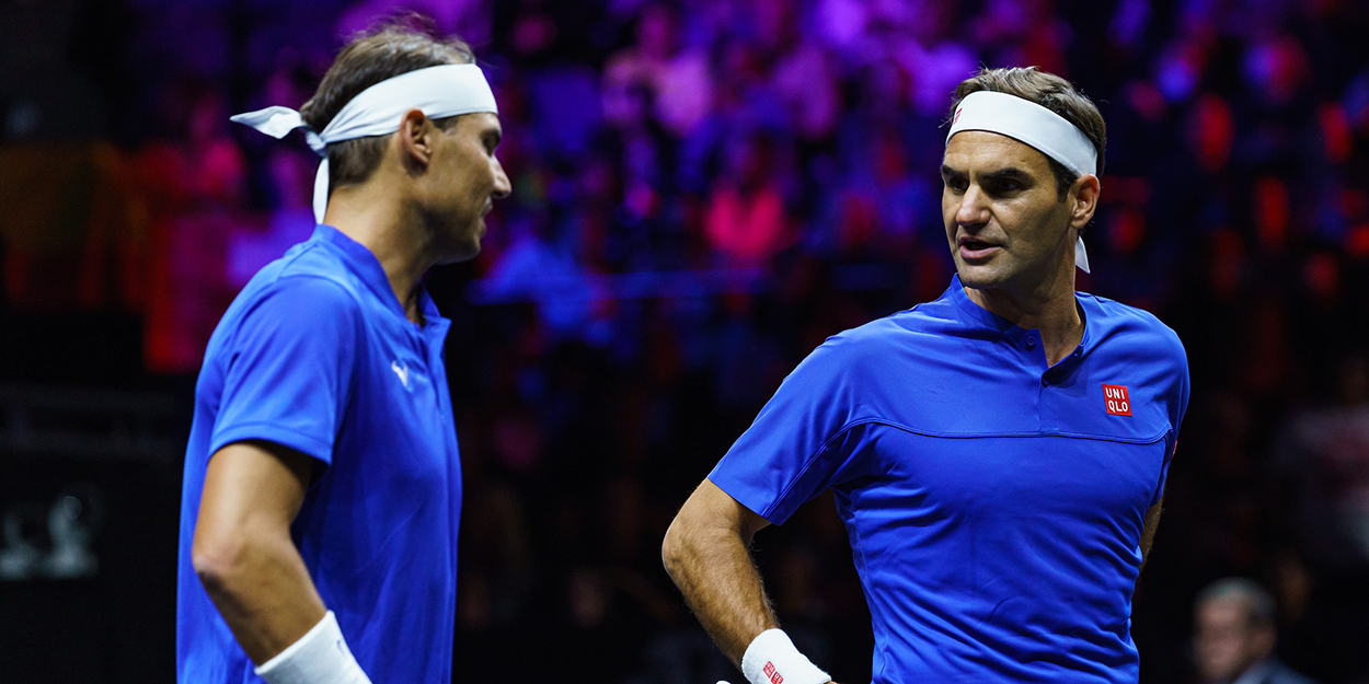
[[[1094,149],[1098,150],[1097,175],[1103,174],[1103,149],[1108,146],[1108,124],[1103,123],[1103,115],[1094,105],[1092,100],[1084,97],[1084,93],[1075,89],[1069,81],[1055,74],[1040,71],[1036,67],[983,68],[979,74],[961,81],[956,88],[956,101],[950,105],[951,115],[956,114],[956,108],[960,107],[960,101],[965,96],[980,90],[1013,94],[1064,116],[1066,122],[1073,123],[1094,144]],[[1049,156],[1046,160],[1050,161],[1050,170],[1055,174],[1055,193],[1064,201],[1069,193],[1069,186],[1075,185],[1075,181],[1079,179],[1079,174]]]

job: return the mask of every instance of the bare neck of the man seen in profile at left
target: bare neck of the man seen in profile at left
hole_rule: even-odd
[[[375,254],[405,317],[423,324],[419,283],[434,264],[431,245],[418,216],[397,189],[372,179],[333,192],[323,223],[357,241]]]

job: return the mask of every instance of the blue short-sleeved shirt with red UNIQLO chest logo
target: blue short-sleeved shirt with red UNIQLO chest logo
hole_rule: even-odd
[[[875,683],[1135,683],[1131,594],[1188,402],[1179,338],[1077,294],[1040,332],[960,279],[830,338],[709,479],[771,523],[835,492],[875,632]]]

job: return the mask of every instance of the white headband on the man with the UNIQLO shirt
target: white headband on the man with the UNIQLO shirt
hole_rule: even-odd
[[[1079,175],[1097,175],[1098,149],[1084,131],[1031,100],[988,90],[969,93],[956,107],[946,144],[950,145],[950,138],[965,130],[1008,135],[1036,148]],[[1088,272],[1084,238],[1075,241],[1075,264]]]

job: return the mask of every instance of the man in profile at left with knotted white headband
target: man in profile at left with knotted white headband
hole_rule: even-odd
[[[353,40],[301,112],[234,116],[323,161],[319,226],[219,321],[181,502],[177,680],[452,681],[461,472],[422,286],[474,257],[498,109],[470,48]]]

